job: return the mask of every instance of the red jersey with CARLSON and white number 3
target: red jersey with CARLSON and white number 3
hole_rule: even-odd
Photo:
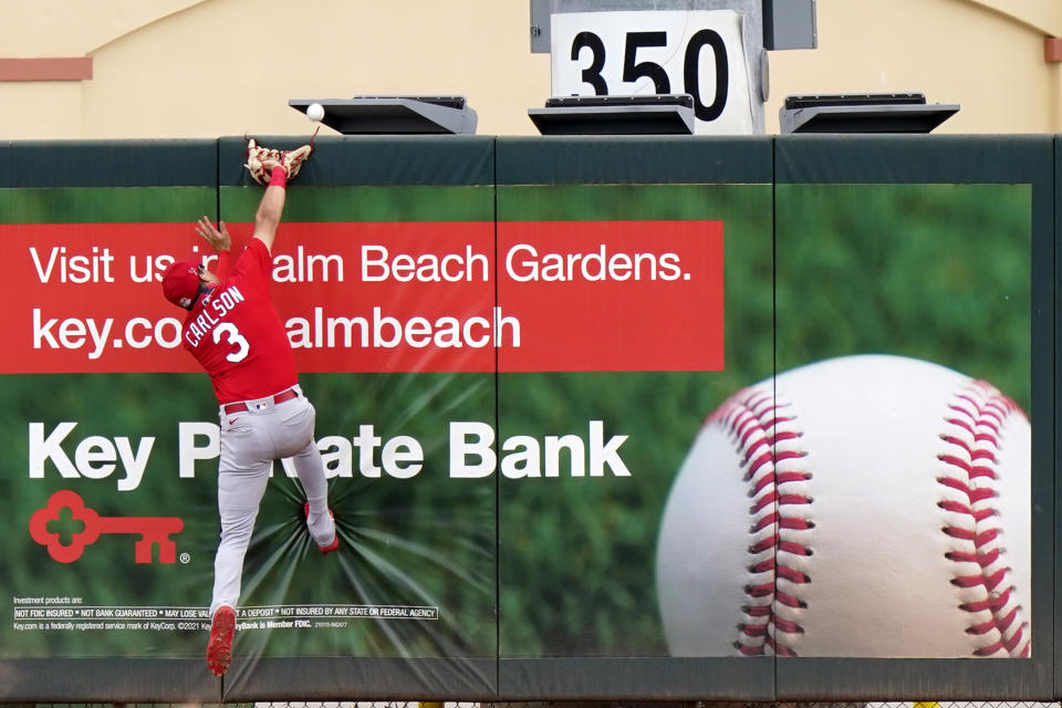
[[[221,282],[185,317],[185,348],[210,375],[219,404],[263,398],[299,382],[295,355],[269,294],[273,260],[251,239],[231,274],[218,260]]]

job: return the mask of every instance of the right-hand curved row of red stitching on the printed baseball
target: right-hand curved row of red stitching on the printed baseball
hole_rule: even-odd
[[[1011,569],[1006,565],[1007,551],[1000,545],[1001,530],[993,521],[999,512],[992,506],[999,496],[993,485],[999,479],[995,466],[999,464],[1000,431],[1009,416],[1022,414],[1014,402],[981,381],[970,382],[957,392],[948,408],[952,415],[945,421],[954,427],[940,436],[950,449],[937,456],[944,465],[937,482],[950,490],[947,497],[952,498],[937,506],[956,516],[955,522],[941,531],[965,548],[951,550],[945,558],[961,564],[956,568],[954,585],[985,593],[983,600],[959,605],[959,610],[970,613],[967,634],[995,637],[972,654],[991,656],[1002,652],[1029,656],[1027,624],[1020,618],[1021,607],[1008,584]],[[954,498],[956,492],[960,499]],[[988,617],[983,616],[986,613]]]

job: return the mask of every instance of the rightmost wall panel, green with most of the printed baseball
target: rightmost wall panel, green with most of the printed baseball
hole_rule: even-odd
[[[788,699],[1050,690],[1048,146],[775,140],[774,580],[728,604]]]

